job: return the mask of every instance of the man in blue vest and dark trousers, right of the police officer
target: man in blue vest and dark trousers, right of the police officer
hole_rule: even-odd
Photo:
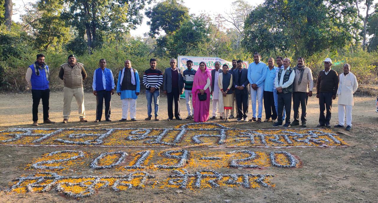
[[[114,95],[114,77],[109,68],[106,68],[106,60],[100,59],[100,67],[93,73],[93,95],[96,96],[96,120],[101,121],[102,103],[105,100],[105,120],[110,120],[110,101]]]

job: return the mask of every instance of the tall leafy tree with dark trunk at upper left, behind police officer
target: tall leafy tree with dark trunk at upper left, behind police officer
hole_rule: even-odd
[[[78,37],[87,40],[88,53],[101,47],[109,33],[128,31],[140,25],[139,12],[151,0],[68,0],[69,8],[62,13],[69,25],[78,31]]]

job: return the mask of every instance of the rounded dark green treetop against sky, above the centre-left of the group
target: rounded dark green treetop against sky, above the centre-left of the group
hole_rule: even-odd
[[[146,16],[151,20],[149,36],[155,37],[160,31],[170,35],[176,31],[189,17],[189,9],[177,0],[164,0],[154,7],[147,9]]]

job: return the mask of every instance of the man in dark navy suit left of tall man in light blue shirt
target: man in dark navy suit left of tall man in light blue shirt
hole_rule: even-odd
[[[237,61],[237,69],[232,71],[232,86],[235,87],[235,99],[239,117],[236,121],[248,121],[248,70],[243,68],[243,60]]]

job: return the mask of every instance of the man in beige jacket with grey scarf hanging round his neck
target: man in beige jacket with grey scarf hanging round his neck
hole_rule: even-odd
[[[293,110],[294,121],[291,126],[299,125],[299,104],[302,108],[302,127],[306,126],[306,114],[307,114],[307,100],[309,96],[312,96],[312,90],[314,88],[314,81],[312,79],[311,69],[305,65],[305,59],[299,57],[297,60],[297,66],[294,67],[295,78],[293,82]]]

